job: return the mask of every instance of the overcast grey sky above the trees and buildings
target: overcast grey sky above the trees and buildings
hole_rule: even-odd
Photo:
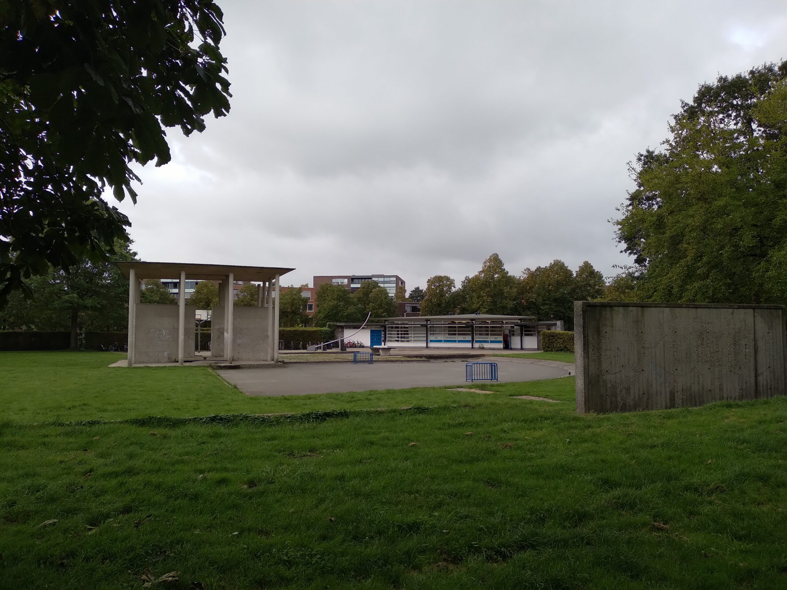
[[[719,74],[787,58],[787,2],[219,0],[231,111],[139,169],[142,260],[432,275],[625,264],[626,162]]]

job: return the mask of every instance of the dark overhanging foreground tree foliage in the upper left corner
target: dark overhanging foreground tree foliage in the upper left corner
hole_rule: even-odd
[[[106,261],[136,200],[132,165],[170,160],[229,110],[210,0],[42,0],[0,9],[0,308],[31,275]]]

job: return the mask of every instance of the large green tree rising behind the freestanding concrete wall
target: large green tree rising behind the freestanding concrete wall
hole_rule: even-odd
[[[615,223],[640,301],[787,303],[787,61],[702,84]]]

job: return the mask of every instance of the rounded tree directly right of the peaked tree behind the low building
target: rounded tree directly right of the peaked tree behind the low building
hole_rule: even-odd
[[[563,260],[546,267],[526,268],[519,283],[523,314],[538,320],[562,319],[568,330],[574,327],[574,273]]]

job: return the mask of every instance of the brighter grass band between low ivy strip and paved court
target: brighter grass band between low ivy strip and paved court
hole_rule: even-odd
[[[114,352],[0,352],[0,407],[11,422],[157,416],[278,414],[335,409],[501,403],[493,396],[421,387],[308,396],[247,396],[209,367],[109,367]],[[279,369],[274,369],[279,371]],[[461,384],[456,384],[461,385]],[[508,391],[510,385],[491,385]],[[541,382],[534,395],[562,395]],[[513,394],[512,394],[513,395]]]

